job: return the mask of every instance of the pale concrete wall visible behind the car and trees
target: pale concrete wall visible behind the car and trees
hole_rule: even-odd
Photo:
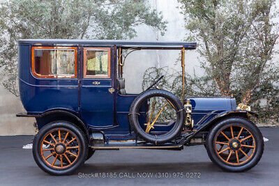
[[[176,0],[149,0],[151,6],[158,11],[162,11],[167,20],[167,32],[165,36],[148,26],[137,27],[137,38],[140,41],[181,41],[187,35],[184,28],[183,15],[176,8],[179,6]],[[279,0],[278,0],[279,2]],[[278,20],[279,22],[279,20]],[[279,46],[276,46],[279,49]],[[140,51],[130,54],[126,60],[124,77],[126,78],[126,89],[129,93],[140,93],[142,91],[142,77],[144,71],[149,67],[164,67],[168,65],[174,70],[180,70],[180,63],[174,65],[179,57],[179,52],[165,51]],[[197,75],[202,75],[203,71],[199,68],[198,54],[196,51],[186,52],[186,71],[193,75],[194,70]],[[279,55],[274,56],[273,60],[279,61]],[[127,73],[128,72],[128,73]],[[24,112],[24,108],[19,98],[8,93],[0,86],[0,135],[19,135],[34,134],[33,118],[16,118],[15,114]]]

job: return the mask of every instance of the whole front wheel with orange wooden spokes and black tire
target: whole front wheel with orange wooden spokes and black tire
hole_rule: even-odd
[[[246,118],[226,118],[217,123],[206,139],[212,162],[226,171],[246,171],[255,166],[264,152],[262,133]]]

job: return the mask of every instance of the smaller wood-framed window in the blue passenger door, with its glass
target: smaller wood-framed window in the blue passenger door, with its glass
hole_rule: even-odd
[[[110,78],[110,48],[84,48],[84,77]]]

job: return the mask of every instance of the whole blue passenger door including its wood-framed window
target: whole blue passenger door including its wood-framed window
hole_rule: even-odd
[[[114,125],[112,47],[83,47],[80,113],[95,128]]]

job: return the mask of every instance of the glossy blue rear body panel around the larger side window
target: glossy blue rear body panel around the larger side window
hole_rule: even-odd
[[[19,45],[20,99],[27,112],[54,108],[77,112],[78,79],[38,79],[31,73],[31,45]]]

